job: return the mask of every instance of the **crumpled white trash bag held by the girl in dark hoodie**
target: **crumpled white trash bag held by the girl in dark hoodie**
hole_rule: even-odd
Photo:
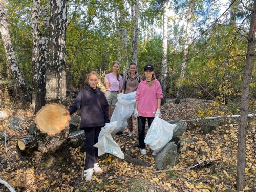
[[[98,155],[103,155],[104,153],[110,153],[114,156],[124,159],[124,154],[119,147],[119,145],[114,141],[111,136],[111,132],[115,129],[117,122],[110,122],[101,128],[99,132],[98,142],[93,145],[98,148]]]

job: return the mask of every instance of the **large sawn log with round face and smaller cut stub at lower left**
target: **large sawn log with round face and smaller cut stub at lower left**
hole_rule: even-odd
[[[30,126],[30,134],[17,141],[18,148],[22,151],[35,148],[42,153],[56,151],[68,138],[69,121],[65,106],[56,103],[43,106]]]

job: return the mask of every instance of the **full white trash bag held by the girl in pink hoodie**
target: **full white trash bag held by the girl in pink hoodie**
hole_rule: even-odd
[[[173,138],[173,131],[177,125],[156,116],[148,129],[145,143],[154,151],[159,152]]]

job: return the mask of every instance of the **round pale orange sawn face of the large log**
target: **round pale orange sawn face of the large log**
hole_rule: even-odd
[[[62,105],[52,103],[41,108],[36,114],[35,124],[42,133],[54,135],[69,125],[69,111]]]

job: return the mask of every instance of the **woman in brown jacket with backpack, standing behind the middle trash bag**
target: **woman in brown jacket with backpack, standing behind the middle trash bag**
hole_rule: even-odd
[[[141,81],[141,76],[137,73],[137,65],[132,62],[129,66],[129,73],[127,73],[123,77],[122,93],[127,94],[127,93],[136,91],[140,81]],[[129,137],[132,137],[134,135],[132,117],[133,116],[131,115],[131,117],[127,119],[128,128],[129,128],[129,134],[128,134]]]

